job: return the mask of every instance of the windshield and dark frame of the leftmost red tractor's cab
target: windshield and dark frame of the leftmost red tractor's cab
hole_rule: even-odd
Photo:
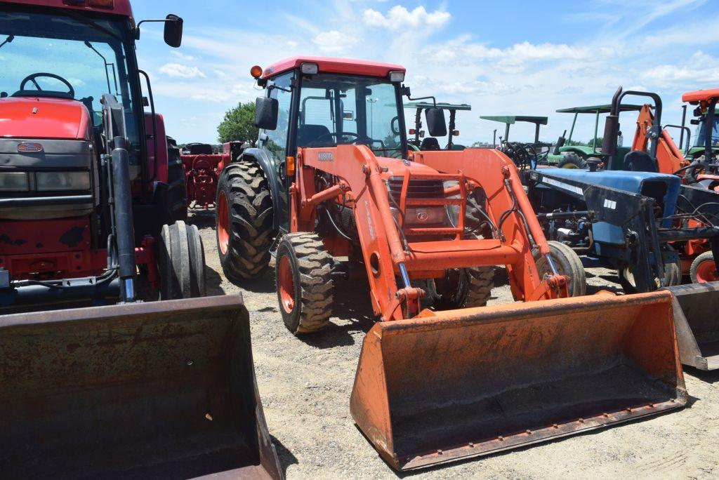
[[[132,49],[132,42],[127,20],[74,11],[66,15],[37,13],[17,4],[0,6],[0,92],[27,96],[40,88],[51,92],[45,95],[74,98],[85,104],[96,127],[102,121],[101,97],[116,96],[124,106],[130,161],[137,175],[139,129],[128,75],[126,49]],[[52,76],[35,76],[38,73]]]

